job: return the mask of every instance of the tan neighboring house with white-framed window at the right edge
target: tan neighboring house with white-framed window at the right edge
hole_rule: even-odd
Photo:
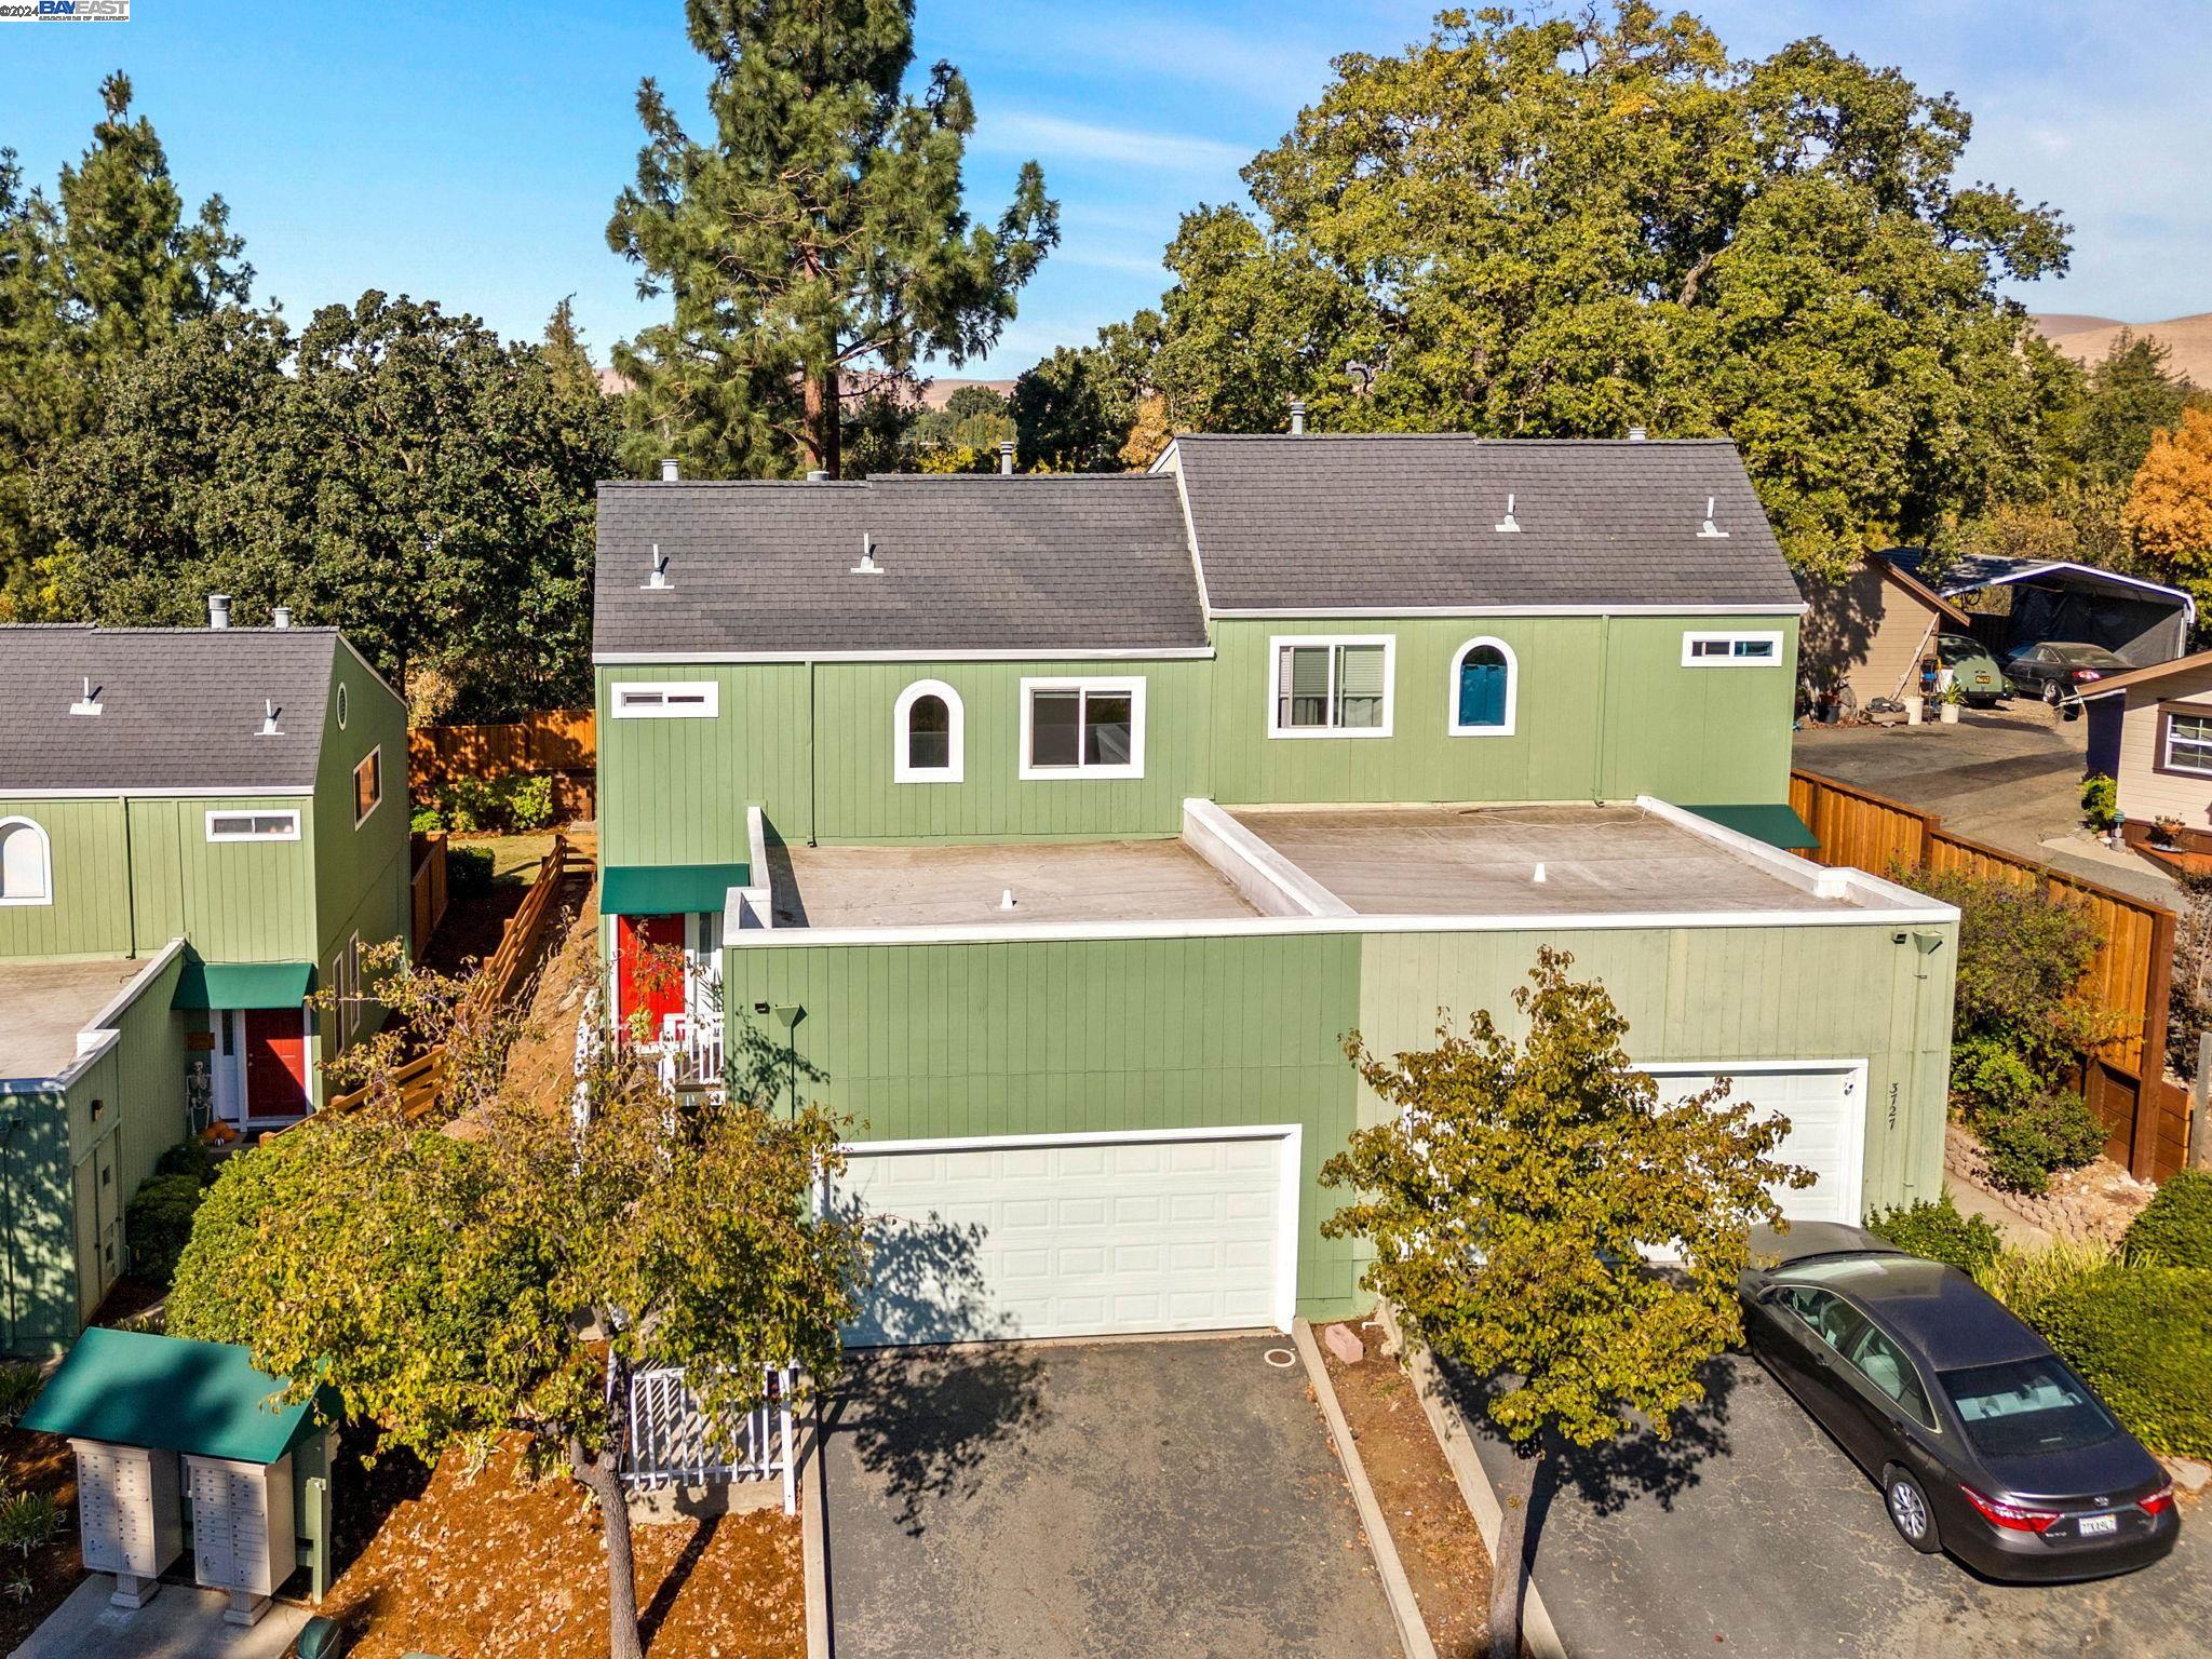
[[[2128,841],[2179,818],[2179,843],[2212,852],[2212,650],[2112,675],[2081,701],[2088,776],[2119,783]]]

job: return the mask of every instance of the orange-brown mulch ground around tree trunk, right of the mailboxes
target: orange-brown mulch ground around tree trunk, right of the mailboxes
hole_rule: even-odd
[[[653,1659],[805,1652],[799,1522],[781,1511],[639,1526],[637,1604]],[[471,1471],[449,1451],[332,1586],[354,1659],[602,1659],[606,1555],[573,1480],[531,1482],[522,1438]]]

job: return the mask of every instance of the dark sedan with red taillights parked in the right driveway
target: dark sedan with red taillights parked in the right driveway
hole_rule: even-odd
[[[2174,1546],[2157,1458],[1958,1267],[1860,1228],[1759,1230],[1752,1354],[1882,1484],[1916,1551],[2000,1579],[2088,1579]]]

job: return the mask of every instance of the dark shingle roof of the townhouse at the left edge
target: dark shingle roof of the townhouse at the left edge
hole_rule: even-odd
[[[336,628],[0,626],[0,794],[301,790]],[[69,706],[93,681],[100,714]],[[281,737],[259,737],[263,703]]]

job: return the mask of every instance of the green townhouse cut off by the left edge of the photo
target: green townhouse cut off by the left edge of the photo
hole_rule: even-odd
[[[409,929],[407,719],[334,628],[0,628],[0,1347],[66,1345],[155,1159],[323,1102]],[[279,613],[279,622],[290,619]]]

